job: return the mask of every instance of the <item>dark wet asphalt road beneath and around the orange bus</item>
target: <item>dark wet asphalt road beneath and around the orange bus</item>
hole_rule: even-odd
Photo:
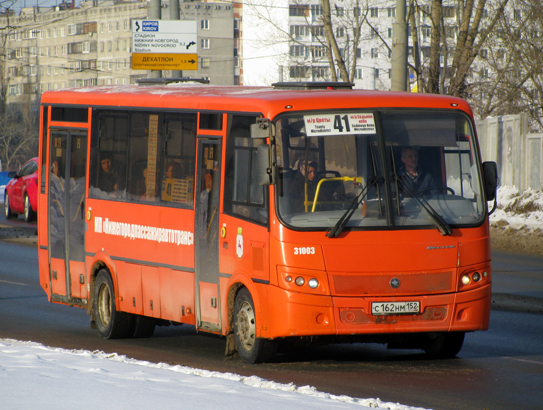
[[[0,241],[0,261],[0,338],[258,375],[337,395],[435,410],[542,408],[543,315],[493,310],[490,329],[466,335],[462,351],[452,360],[430,361],[417,351],[377,344],[344,344],[287,350],[274,363],[251,366],[225,357],[224,339],[196,334],[188,325],[157,328],[148,339],[101,339],[90,329],[84,310],[47,302],[37,281],[35,247]],[[542,267],[543,258],[496,253],[494,271],[509,283],[497,283],[497,274],[495,287],[533,297],[539,292]]]

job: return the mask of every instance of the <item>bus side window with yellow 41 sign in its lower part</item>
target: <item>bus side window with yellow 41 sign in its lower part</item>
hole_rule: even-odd
[[[192,113],[165,114],[161,200],[166,205],[193,208],[196,121]]]

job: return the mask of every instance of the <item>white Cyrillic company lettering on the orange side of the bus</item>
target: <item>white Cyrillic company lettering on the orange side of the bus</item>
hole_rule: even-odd
[[[194,233],[188,230],[116,222],[110,221],[109,218],[104,220],[102,216],[94,217],[94,232],[122,236],[123,238],[155,241],[159,242],[159,244],[167,242],[176,245],[194,245]]]

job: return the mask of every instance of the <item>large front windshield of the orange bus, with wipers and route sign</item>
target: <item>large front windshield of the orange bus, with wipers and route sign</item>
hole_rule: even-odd
[[[449,234],[483,220],[473,129],[459,111],[296,113],[276,129],[277,213],[287,226]]]

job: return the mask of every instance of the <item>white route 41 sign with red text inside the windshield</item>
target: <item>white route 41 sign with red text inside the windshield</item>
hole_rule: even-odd
[[[370,112],[317,114],[304,116],[308,137],[346,134],[375,134],[375,120]]]

